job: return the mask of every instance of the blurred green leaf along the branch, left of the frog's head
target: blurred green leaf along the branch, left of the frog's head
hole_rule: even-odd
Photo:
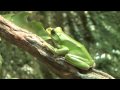
[[[17,14],[5,14],[3,15],[3,17],[10,20],[21,28],[32,31],[44,40],[50,39],[41,22],[28,20],[30,15],[31,14],[27,12],[19,12]]]

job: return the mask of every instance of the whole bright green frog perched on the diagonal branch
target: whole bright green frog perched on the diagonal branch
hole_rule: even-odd
[[[69,64],[82,70],[88,70],[95,66],[94,60],[84,45],[65,34],[60,27],[47,28],[46,31],[56,46],[56,48],[49,47],[53,54],[64,55]]]

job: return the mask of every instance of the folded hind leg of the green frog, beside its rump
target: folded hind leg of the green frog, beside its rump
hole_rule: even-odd
[[[90,68],[89,64],[87,64],[87,61],[82,60],[82,58],[80,58],[79,56],[68,53],[65,55],[65,59],[69,64],[79,69],[88,70]]]

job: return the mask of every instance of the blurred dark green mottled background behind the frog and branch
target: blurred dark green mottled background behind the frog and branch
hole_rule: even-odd
[[[20,11],[1,11],[1,15]],[[22,12],[22,11],[21,11]],[[96,62],[96,68],[120,78],[119,11],[26,11],[29,19],[44,28],[60,26],[82,42]],[[30,30],[31,31],[31,30]],[[40,34],[39,30],[32,32]],[[0,78],[59,78],[35,57],[0,40]]]

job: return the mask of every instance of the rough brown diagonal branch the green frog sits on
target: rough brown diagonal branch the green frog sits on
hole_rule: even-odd
[[[16,26],[0,15],[0,36],[10,43],[24,49],[43,62],[50,70],[66,79],[114,79],[100,70],[83,72],[65,62],[64,57],[55,57],[49,52],[49,43],[39,36]]]

